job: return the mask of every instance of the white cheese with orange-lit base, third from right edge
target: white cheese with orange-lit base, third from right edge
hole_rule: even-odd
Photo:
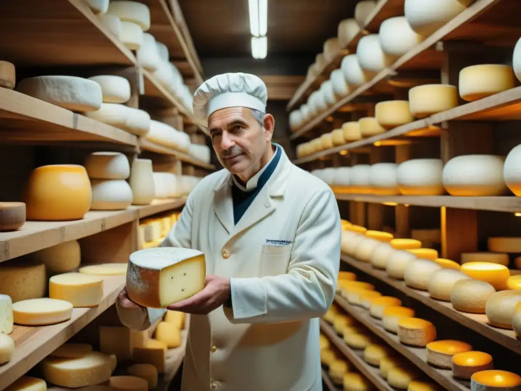
[[[443,162],[440,159],[412,159],[396,170],[396,180],[404,196],[443,194]]]

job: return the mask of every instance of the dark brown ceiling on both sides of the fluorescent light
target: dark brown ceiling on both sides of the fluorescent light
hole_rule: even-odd
[[[316,55],[353,16],[354,0],[268,0],[268,57]],[[251,57],[248,0],[179,0],[195,49],[208,57]]]

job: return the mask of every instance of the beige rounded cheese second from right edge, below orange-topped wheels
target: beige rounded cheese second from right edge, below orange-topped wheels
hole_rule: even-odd
[[[512,317],[517,306],[521,301],[521,291],[502,290],[495,292],[487,300],[485,313],[488,322],[492,326],[512,329]]]

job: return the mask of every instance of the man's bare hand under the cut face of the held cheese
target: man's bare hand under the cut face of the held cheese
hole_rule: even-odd
[[[172,311],[206,315],[219,308],[230,297],[230,279],[216,275],[206,277],[206,286],[188,299],[167,307]]]

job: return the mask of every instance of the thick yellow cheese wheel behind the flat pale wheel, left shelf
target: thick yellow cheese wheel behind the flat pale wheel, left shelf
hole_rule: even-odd
[[[103,300],[103,278],[83,274],[58,274],[49,279],[49,298],[65,300],[73,307],[96,307]]]

